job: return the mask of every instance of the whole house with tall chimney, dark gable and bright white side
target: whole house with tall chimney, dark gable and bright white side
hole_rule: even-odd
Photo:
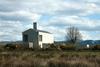
[[[53,35],[50,32],[38,30],[37,23],[33,23],[33,29],[22,32],[23,43],[28,48],[48,48],[54,43]]]

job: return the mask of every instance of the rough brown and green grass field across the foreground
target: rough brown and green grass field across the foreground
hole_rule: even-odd
[[[0,67],[100,67],[100,52],[1,51]]]

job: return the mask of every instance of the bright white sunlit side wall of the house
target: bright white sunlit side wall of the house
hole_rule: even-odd
[[[54,38],[53,35],[50,33],[45,33],[45,32],[39,32],[39,35],[42,35],[42,41],[39,41],[39,45],[42,46],[42,48],[47,47],[46,44],[53,44],[54,43]],[[45,45],[43,45],[45,44]]]

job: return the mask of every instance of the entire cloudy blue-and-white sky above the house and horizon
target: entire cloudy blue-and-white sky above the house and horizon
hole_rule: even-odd
[[[65,40],[70,25],[83,40],[100,40],[100,0],[0,0],[0,41],[22,40],[33,22],[55,41]]]

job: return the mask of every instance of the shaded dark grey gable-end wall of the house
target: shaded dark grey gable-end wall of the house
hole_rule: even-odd
[[[38,32],[37,31],[28,30],[28,31],[25,31],[23,33],[23,35],[28,35],[28,41],[27,42],[24,41],[24,36],[23,36],[23,42],[25,44],[27,44],[26,47],[29,48],[33,43],[33,48],[39,48],[39,45],[38,45],[39,44],[39,42],[38,42]]]

